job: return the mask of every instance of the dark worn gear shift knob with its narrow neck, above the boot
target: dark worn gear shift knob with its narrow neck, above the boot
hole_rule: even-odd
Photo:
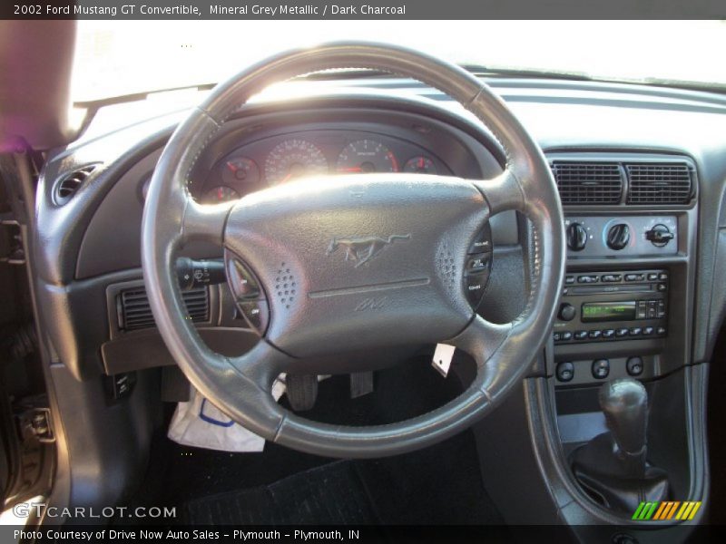
[[[635,466],[642,462],[644,468],[645,433],[648,428],[648,393],[645,387],[633,378],[613,380],[603,384],[599,399],[617,453]]]

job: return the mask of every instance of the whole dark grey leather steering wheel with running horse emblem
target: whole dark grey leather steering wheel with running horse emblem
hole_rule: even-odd
[[[270,83],[336,68],[385,71],[445,92],[495,134],[505,151],[504,172],[490,180],[328,176],[213,206],[191,198],[195,161],[250,96]],[[467,262],[489,217],[506,209],[531,221],[534,277],[522,315],[498,325],[470,304]],[[177,127],[154,170],[143,212],[143,276],[173,358],[191,384],[233,420],[299,451],[380,457],[464,430],[520,382],[550,334],[563,284],[563,225],[542,151],[485,83],[405,48],[325,44],[251,66],[219,84]],[[212,352],[187,316],[174,262],[177,249],[191,240],[225,248],[238,303],[252,298],[262,308],[260,342],[245,355]],[[346,352],[434,343],[472,355],[476,378],[450,403],[407,421],[317,423],[285,410],[270,393],[279,374],[299,374],[306,361],[318,361],[318,374],[341,374],[351,372],[343,365]]]

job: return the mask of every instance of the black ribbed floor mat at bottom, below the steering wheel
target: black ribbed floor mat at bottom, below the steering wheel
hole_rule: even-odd
[[[192,525],[368,525],[378,523],[349,461],[300,472],[270,485],[221,493],[185,505]]]

